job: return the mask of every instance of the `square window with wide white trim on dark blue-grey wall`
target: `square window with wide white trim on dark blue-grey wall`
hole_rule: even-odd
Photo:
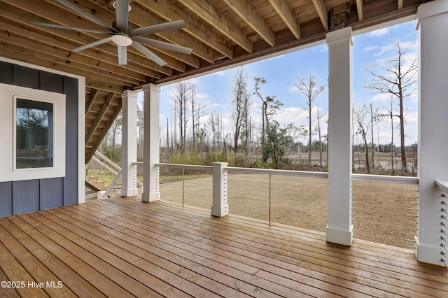
[[[0,181],[65,176],[65,94],[0,84],[0,106]]]

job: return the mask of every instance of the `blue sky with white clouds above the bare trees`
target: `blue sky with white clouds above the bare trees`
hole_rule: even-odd
[[[395,55],[391,40],[406,43],[412,49],[410,55],[406,59],[416,58],[416,41],[417,31],[415,30],[415,22],[406,22],[404,24],[371,31],[366,34],[353,36],[352,48],[352,99],[353,106],[356,108],[363,103],[370,104],[372,101],[374,106],[379,108],[389,108],[388,97],[384,94],[374,94],[372,90],[364,88],[371,78],[370,73],[364,70],[371,64],[378,63],[381,59],[386,59]],[[320,115],[328,115],[328,48],[325,43],[316,45],[312,48],[297,50],[286,55],[265,59],[260,62],[246,64],[243,66],[248,74],[248,85],[253,87],[253,77],[258,76],[265,78],[267,83],[261,85],[261,93],[264,97],[275,95],[283,106],[276,115],[276,120],[281,125],[293,123],[294,125],[307,125],[306,99],[293,87],[293,83],[297,83],[297,78],[309,76],[313,73],[318,86],[325,87],[316,99]],[[193,78],[191,81],[197,86],[197,99],[207,106],[206,115],[202,118],[202,125],[207,123],[207,114],[211,111],[222,113],[223,125],[225,132],[232,132],[232,122],[230,120],[230,108],[232,101],[232,83],[235,79],[236,69],[228,69],[218,71],[206,76]],[[415,87],[416,88],[416,87]],[[172,118],[172,86],[166,85],[162,87],[160,96],[160,127],[162,136],[166,135],[167,118]],[[405,125],[406,143],[407,145],[416,143],[417,141],[417,122],[416,122],[416,106],[417,94],[407,99],[408,110]],[[260,119],[260,99],[253,96],[253,107],[251,115],[255,122]],[[395,109],[398,106],[395,104]],[[316,115],[317,107],[313,108],[313,115]],[[391,124],[388,118],[384,118],[381,123],[374,127],[374,140],[377,143],[389,143],[391,141]],[[397,127],[398,118],[394,120],[394,143],[399,144],[399,129]],[[325,121],[321,122],[321,126],[326,133]],[[356,130],[356,128],[355,128]],[[324,134],[325,134],[324,133]],[[315,136],[316,138],[317,136]],[[304,142],[304,139],[297,140]],[[355,138],[358,143],[360,138]]]

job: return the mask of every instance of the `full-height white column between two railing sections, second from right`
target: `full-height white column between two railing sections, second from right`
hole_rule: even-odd
[[[328,226],[326,240],[350,246],[351,225],[351,27],[329,32]]]

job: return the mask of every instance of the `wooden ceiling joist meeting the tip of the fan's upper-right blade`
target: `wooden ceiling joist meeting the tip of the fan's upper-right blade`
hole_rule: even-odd
[[[214,50],[221,52],[225,57],[233,57],[233,49],[230,45],[226,44],[222,38],[216,36],[214,31],[205,28],[203,24],[200,24],[197,20],[193,19],[193,17],[190,17],[190,15],[172,5],[169,1],[136,0],[134,2],[139,3],[141,6],[144,6],[146,9],[151,10],[153,13],[169,21],[183,20],[187,25],[183,31],[191,34],[193,37],[197,38],[202,43],[207,44]],[[216,57],[214,57],[214,59],[216,59]]]

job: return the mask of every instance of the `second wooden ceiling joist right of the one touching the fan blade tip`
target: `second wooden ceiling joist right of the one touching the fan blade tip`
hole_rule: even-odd
[[[230,1],[223,0],[230,8],[232,8],[244,22],[246,22],[261,38],[263,38],[270,46],[275,45],[275,34],[266,22],[258,15],[246,0]]]

